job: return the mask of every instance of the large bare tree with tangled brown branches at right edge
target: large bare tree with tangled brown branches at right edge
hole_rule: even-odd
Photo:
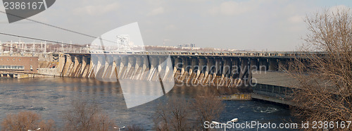
[[[310,34],[306,54],[290,64],[298,80],[294,112],[305,121],[352,120],[352,13],[348,8],[325,9],[306,17]],[[335,126],[336,127],[336,126]]]

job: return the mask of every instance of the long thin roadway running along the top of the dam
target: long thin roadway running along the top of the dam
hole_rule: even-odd
[[[306,54],[325,55],[325,52],[303,51],[125,51],[113,52],[94,51],[94,53],[65,53],[73,56],[87,55],[153,55],[153,56],[223,56],[223,57],[265,57],[265,58],[296,58]]]

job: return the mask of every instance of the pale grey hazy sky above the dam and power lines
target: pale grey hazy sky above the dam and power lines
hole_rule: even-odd
[[[137,22],[145,45],[295,51],[309,33],[306,15],[351,6],[350,0],[57,0],[30,19],[96,37]],[[0,32],[75,44],[94,41],[29,20],[8,23],[4,13]],[[18,39],[0,35],[1,42]]]

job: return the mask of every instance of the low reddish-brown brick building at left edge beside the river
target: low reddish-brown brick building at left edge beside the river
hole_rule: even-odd
[[[37,73],[38,57],[0,56],[1,77],[19,77]]]

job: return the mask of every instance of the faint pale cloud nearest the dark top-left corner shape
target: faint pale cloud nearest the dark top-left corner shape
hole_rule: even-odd
[[[75,14],[77,15],[103,15],[105,13],[115,11],[119,8],[120,4],[113,3],[113,4],[106,4],[106,5],[89,5],[80,7],[74,10]]]

